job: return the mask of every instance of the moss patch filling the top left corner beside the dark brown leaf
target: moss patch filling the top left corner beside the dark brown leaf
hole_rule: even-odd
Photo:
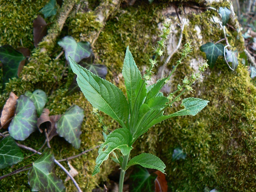
[[[37,17],[47,0],[3,0],[0,6],[0,45],[32,49],[33,20]],[[21,43],[22,41],[22,43]]]

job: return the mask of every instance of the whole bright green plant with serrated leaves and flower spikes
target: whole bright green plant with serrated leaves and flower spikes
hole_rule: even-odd
[[[198,73],[193,73],[190,77],[182,80],[182,85],[177,86],[177,90],[169,93],[166,97],[160,92],[161,88],[169,81],[177,66],[184,58],[187,58],[192,52],[190,43],[184,45],[181,58],[176,62],[172,72],[166,78],[159,79],[155,84],[146,86],[146,81],[151,79],[152,70],[157,65],[157,57],[163,55],[165,50],[165,41],[170,33],[170,24],[163,24],[165,28],[160,33],[161,41],[154,47],[154,57],[151,58],[150,65],[145,75],[141,76],[134,58],[129,50],[126,49],[125,61],[123,64],[122,75],[125,79],[125,87],[127,99],[122,91],[105,79],[96,76],[89,70],[76,64],[69,57],[70,66],[77,75],[77,83],[81,88],[86,99],[93,105],[93,114],[100,120],[99,111],[102,111],[113,119],[115,119],[122,128],[118,128],[108,134],[108,127],[105,125],[105,142],[99,148],[99,156],[96,159],[96,166],[92,175],[96,175],[100,171],[103,161],[107,160],[109,155],[113,153],[112,159],[121,166],[121,174],[119,180],[119,192],[122,192],[125,171],[133,165],[139,164],[145,168],[157,169],[165,172],[165,164],[153,154],[142,153],[129,160],[133,143],[142,134],[148,131],[153,125],[174,116],[196,115],[201,111],[209,101],[198,98],[183,99],[180,106],[183,109],[175,113],[164,115],[166,108],[171,107],[174,102],[180,101],[180,96],[185,92],[192,92],[192,84],[196,80],[200,80],[201,73],[208,67],[208,64],[202,63]],[[178,94],[177,96],[176,93]],[[106,135],[108,134],[108,136]],[[114,151],[119,149],[119,151]],[[118,154],[118,155],[116,155]]]

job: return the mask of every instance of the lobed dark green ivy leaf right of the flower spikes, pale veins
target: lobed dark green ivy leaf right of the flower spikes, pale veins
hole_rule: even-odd
[[[202,52],[205,52],[209,66],[212,68],[217,61],[218,56],[224,56],[224,45],[213,44],[208,42],[200,47]]]

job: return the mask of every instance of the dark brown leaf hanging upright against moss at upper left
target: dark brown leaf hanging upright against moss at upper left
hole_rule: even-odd
[[[34,34],[34,45],[38,47],[38,43],[42,41],[44,36],[47,34],[47,23],[38,15],[38,17],[33,21],[33,34]]]

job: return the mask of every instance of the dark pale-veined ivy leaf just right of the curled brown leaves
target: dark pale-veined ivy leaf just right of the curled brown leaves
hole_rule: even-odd
[[[56,123],[57,133],[64,137],[76,149],[80,148],[81,124],[84,119],[84,111],[79,106],[71,107]]]

